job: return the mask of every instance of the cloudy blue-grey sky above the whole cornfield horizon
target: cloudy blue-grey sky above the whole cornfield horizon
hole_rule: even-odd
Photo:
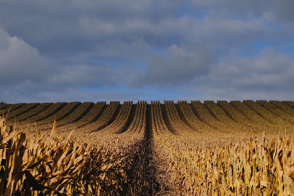
[[[293,7],[0,0],[0,101],[294,101]]]

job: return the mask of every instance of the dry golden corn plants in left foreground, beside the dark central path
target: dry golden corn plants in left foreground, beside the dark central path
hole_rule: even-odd
[[[121,195],[128,153],[1,125],[1,195]],[[60,138],[60,137],[59,137]]]

